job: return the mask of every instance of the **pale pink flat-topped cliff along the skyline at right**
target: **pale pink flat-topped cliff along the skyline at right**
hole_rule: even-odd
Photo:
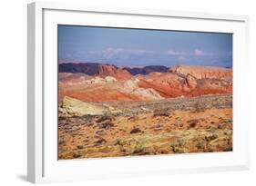
[[[232,78],[232,69],[221,67],[178,65],[169,69],[169,72],[184,75],[191,74],[197,79],[231,80]]]

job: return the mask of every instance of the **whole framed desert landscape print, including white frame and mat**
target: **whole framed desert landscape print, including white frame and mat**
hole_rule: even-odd
[[[248,22],[28,5],[28,181],[248,169]]]

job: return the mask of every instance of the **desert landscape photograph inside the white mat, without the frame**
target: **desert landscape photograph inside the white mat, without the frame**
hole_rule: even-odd
[[[233,34],[57,24],[57,159],[232,152]]]

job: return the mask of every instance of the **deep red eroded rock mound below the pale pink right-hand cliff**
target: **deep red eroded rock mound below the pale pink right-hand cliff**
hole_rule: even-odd
[[[199,77],[199,76],[198,76]],[[202,94],[231,93],[231,76],[221,78],[198,78],[191,73],[159,73],[150,76],[140,76],[138,86],[141,88],[152,88],[160,96],[198,96]]]

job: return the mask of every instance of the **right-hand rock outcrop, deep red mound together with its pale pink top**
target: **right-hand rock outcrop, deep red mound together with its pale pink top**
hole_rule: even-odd
[[[232,70],[219,67],[176,66],[139,80],[139,87],[153,88],[165,98],[232,92]]]

